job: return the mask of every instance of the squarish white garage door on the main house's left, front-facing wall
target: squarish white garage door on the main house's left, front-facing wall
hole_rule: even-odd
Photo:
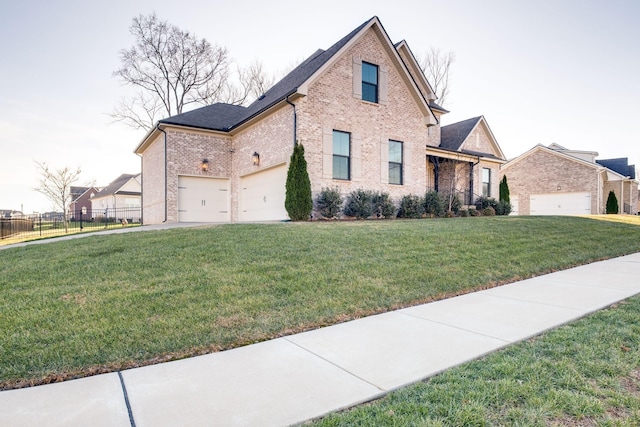
[[[229,222],[229,180],[178,177],[179,222]]]

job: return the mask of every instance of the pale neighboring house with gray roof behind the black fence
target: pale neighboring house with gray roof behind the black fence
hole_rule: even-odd
[[[92,218],[98,220],[141,219],[141,176],[122,174],[91,198]]]

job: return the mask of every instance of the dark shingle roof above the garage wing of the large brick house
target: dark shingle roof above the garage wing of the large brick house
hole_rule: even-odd
[[[293,94],[300,85],[307,81],[320,67],[374,19],[376,19],[375,16],[362,23],[362,25],[351,31],[329,49],[319,49],[314,52],[313,55],[298,65],[248,107],[218,103],[177,116],[168,117],[160,120],[160,123],[222,131],[231,130]]]

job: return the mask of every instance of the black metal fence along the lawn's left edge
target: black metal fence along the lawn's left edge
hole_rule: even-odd
[[[90,214],[78,210],[67,215],[62,212],[19,215],[0,218],[0,238],[3,243],[13,243],[141,224],[140,208],[93,209]]]

